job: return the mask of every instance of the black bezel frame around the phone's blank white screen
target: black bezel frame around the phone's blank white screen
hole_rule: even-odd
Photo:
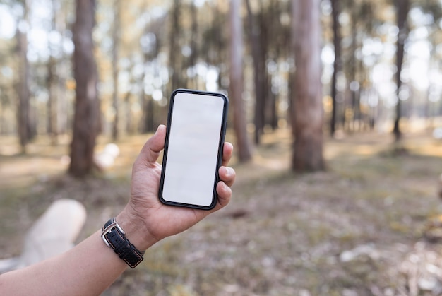
[[[169,136],[170,136],[169,131],[170,131],[170,126],[172,124],[172,118],[173,118],[174,100],[175,100],[175,96],[178,93],[191,93],[191,94],[196,94],[196,95],[210,95],[210,96],[215,96],[215,97],[221,97],[222,100],[224,101],[224,107],[222,110],[222,123],[221,123],[221,129],[220,129],[220,140],[218,143],[217,167],[215,170],[215,176],[214,176],[214,180],[213,180],[212,202],[210,203],[209,206],[201,206],[201,205],[196,205],[196,204],[192,204],[192,203],[179,203],[176,201],[167,201],[162,196],[162,192],[163,192],[163,188],[164,188],[164,181],[165,181],[165,168],[167,166],[167,151],[168,151]],[[163,154],[163,158],[162,158],[160,188],[158,190],[158,197],[162,203],[164,203],[168,206],[181,206],[181,207],[186,207],[186,208],[197,208],[197,209],[202,209],[202,210],[211,210],[211,209],[215,208],[215,206],[217,204],[216,185],[220,179],[219,175],[218,175],[218,170],[219,170],[220,166],[222,165],[222,148],[224,146],[225,132],[227,129],[228,109],[229,109],[229,99],[227,98],[226,95],[224,95],[222,93],[208,92],[208,91],[203,91],[203,90],[189,90],[189,89],[185,89],[185,88],[179,88],[179,89],[174,90],[172,92],[172,95],[170,96],[170,101],[169,101],[169,112],[167,114],[167,130],[166,130],[166,138],[165,138],[165,149],[164,149],[164,154]]]

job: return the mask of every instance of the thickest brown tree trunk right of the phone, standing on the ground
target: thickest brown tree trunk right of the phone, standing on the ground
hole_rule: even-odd
[[[324,169],[319,1],[292,0],[294,73],[294,150],[292,169]]]

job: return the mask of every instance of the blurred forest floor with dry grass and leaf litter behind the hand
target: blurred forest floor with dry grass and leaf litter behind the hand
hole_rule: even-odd
[[[67,139],[39,138],[18,155],[1,138],[0,258],[20,254],[56,199],[87,208],[80,239],[95,232],[126,203],[147,137],[121,139],[115,166],[83,182],[64,175]],[[329,138],[328,169],[294,174],[289,131],[266,134],[253,162],[233,160],[227,208],[149,249],[104,295],[441,295],[442,142],[419,132],[402,145],[374,132]]]

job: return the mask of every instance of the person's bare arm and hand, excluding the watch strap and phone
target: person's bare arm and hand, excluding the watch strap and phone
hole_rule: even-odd
[[[164,143],[165,126],[159,126],[133,164],[131,200],[116,219],[126,238],[141,251],[227,206],[232,196],[229,187],[235,172],[226,167],[232,156],[232,144],[225,143],[219,172],[222,181],[217,184],[219,199],[212,211],[160,203],[157,196],[161,166],[156,161]],[[0,275],[0,295],[100,295],[127,268],[100,235],[99,230],[64,254]]]

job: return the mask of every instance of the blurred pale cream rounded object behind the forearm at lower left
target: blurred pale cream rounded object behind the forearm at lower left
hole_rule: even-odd
[[[78,201],[54,201],[25,235],[21,256],[0,260],[0,273],[35,264],[71,249],[85,220],[85,208]]]

